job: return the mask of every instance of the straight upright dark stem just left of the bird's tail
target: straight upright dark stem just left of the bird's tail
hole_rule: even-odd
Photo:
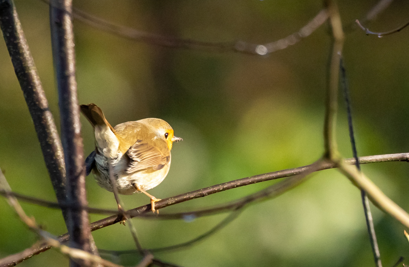
[[[85,165],[81,137],[80,112],[75,80],[72,0],[54,0],[50,6],[53,60],[57,76],[61,136],[67,169],[67,200],[73,206],[88,205],[85,192]],[[88,212],[69,209],[71,247],[91,251]],[[76,266],[70,261],[71,266]]]

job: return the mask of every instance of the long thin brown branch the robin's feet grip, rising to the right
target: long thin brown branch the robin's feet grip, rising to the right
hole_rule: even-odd
[[[372,162],[390,162],[390,161],[409,162],[409,153],[366,156],[366,157],[361,157],[360,158],[360,163],[361,164],[372,163]],[[355,164],[355,159],[353,159],[353,158],[347,159],[347,160],[345,160],[345,164],[354,165]],[[317,171],[324,170],[324,169],[331,169],[331,168],[334,168],[334,167],[336,167],[336,165],[334,163],[321,162],[321,165],[317,167]],[[189,193],[182,194],[182,195],[179,195],[179,196],[175,196],[173,198],[162,199],[161,201],[155,203],[155,207],[157,207],[158,209],[161,209],[161,208],[176,204],[175,200],[180,201],[182,199],[180,202],[183,202],[183,201],[191,200],[191,199],[194,199],[194,198],[203,197],[203,196],[205,196],[204,194],[202,194],[203,192],[205,192],[207,194],[213,194],[213,193],[216,193],[218,191],[224,191],[224,190],[227,190],[227,189],[232,189],[232,188],[237,187],[238,184],[241,184],[243,182],[245,182],[244,185],[249,185],[249,184],[253,184],[255,182],[263,182],[265,180],[274,180],[274,179],[278,179],[278,178],[294,176],[294,175],[300,174],[302,171],[311,170],[311,168],[312,168],[312,165],[307,165],[307,166],[298,167],[298,168],[294,168],[294,169],[275,171],[275,172],[271,172],[271,173],[267,173],[267,174],[260,174],[260,175],[251,176],[251,177],[248,177],[248,178],[234,180],[234,181],[231,181],[231,182],[215,185],[213,187],[206,187],[206,188],[203,188],[203,189],[200,189],[200,190],[191,191]],[[290,183],[290,185],[291,185],[291,183]],[[274,191],[273,189],[274,189],[274,187],[270,187],[271,191]],[[277,191],[279,191],[279,190],[277,189]],[[190,196],[190,197],[187,197],[187,196]],[[252,196],[252,195],[250,195],[250,196]],[[160,204],[160,206],[158,205],[158,203]],[[236,207],[236,206],[233,203],[233,205],[231,205],[231,206],[226,205],[224,207],[220,207],[219,211],[220,212],[228,211],[228,210],[231,210],[234,207]],[[133,218],[133,217],[136,217],[136,216],[143,216],[144,214],[148,213],[149,211],[151,211],[151,205],[147,204],[147,205],[144,205],[144,206],[141,206],[141,207],[137,207],[135,209],[131,209],[131,210],[127,211],[127,212],[130,215],[130,217]],[[199,210],[199,211],[193,211],[193,212],[190,211],[188,213],[175,214],[175,216],[172,216],[170,219],[183,218],[184,215],[189,215],[189,214],[192,214],[192,213],[194,213],[195,216],[204,216],[204,215],[215,214],[217,212],[218,212],[218,210],[213,209],[213,208],[212,209]],[[166,216],[168,216],[168,215],[167,214],[159,215],[160,218],[161,218],[161,216],[166,218]],[[169,216],[171,216],[171,215],[169,215]],[[118,223],[121,220],[123,220],[122,216],[110,216],[108,218],[98,220],[98,221],[96,221],[94,223],[91,223],[91,226],[90,226],[91,231],[95,231],[97,229],[100,229],[100,228],[103,228],[103,227]],[[69,239],[68,234],[63,234],[63,235],[58,237],[58,240],[61,243],[68,241],[68,239]],[[50,249],[50,247],[45,243],[43,243],[43,244],[34,244],[32,247],[30,247],[28,249],[25,249],[22,252],[19,252],[17,254],[13,254],[13,255],[7,256],[6,258],[1,259],[0,260],[0,267],[15,266],[16,264],[21,263],[22,261],[27,260],[28,258],[31,258],[34,255],[40,254],[41,252],[44,252],[44,251],[46,251],[48,249]]]

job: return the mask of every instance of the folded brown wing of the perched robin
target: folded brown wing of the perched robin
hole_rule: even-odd
[[[148,168],[160,170],[166,163],[169,163],[171,159],[169,151],[162,153],[159,149],[153,147],[153,145],[142,140],[137,140],[137,142],[126,151],[126,155],[130,158],[129,165],[125,169],[127,173]]]

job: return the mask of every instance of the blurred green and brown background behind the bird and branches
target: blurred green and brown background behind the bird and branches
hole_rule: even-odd
[[[344,25],[363,18],[376,0],[339,2]],[[87,0],[74,6],[111,22],[151,33],[203,41],[266,43],[298,31],[321,1]],[[32,56],[58,125],[47,4],[16,0]],[[387,31],[407,22],[409,2],[394,1],[367,26]],[[360,30],[346,35],[344,59],[351,87],[360,156],[409,150],[408,31],[384,38]],[[80,103],[94,102],[112,125],[147,117],[169,122],[184,140],[173,146],[167,178],[149,192],[171,197],[246,176],[307,165],[323,153],[328,24],[301,42],[269,56],[164,48],[134,42],[74,21]],[[13,191],[55,201],[33,123],[0,40],[0,167]],[[351,157],[344,103],[340,100],[339,149]],[[85,154],[94,149],[92,127],[82,117]],[[409,210],[405,162],[362,166],[401,207]],[[161,210],[186,211],[227,202],[274,183],[263,182]],[[90,206],[116,209],[112,193],[87,178]],[[122,196],[126,208],[146,196]],[[61,212],[22,203],[52,234],[66,231]],[[0,257],[31,246],[36,236],[0,198]],[[193,222],[135,218],[143,247],[187,241],[226,215]],[[373,207],[384,266],[400,256],[409,263],[402,225]],[[91,215],[90,220],[105,216]],[[101,249],[134,249],[128,227],[93,232]],[[374,266],[360,191],[336,170],[321,171],[274,200],[247,208],[209,239],[157,258],[190,266]],[[136,265],[139,258],[110,258]],[[67,266],[50,250],[20,266]]]

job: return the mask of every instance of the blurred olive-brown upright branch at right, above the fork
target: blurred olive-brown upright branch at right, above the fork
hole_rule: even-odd
[[[336,123],[338,109],[338,84],[339,84],[339,61],[342,56],[342,47],[344,44],[344,32],[342,31],[341,18],[339,17],[338,7],[335,1],[328,1],[328,13],[333,32],[334,45],[331,55],[329,80],[326,99],[326,113],[324,122],[324,145],[325,157],[330,160],[339,160],[336,140]]]

